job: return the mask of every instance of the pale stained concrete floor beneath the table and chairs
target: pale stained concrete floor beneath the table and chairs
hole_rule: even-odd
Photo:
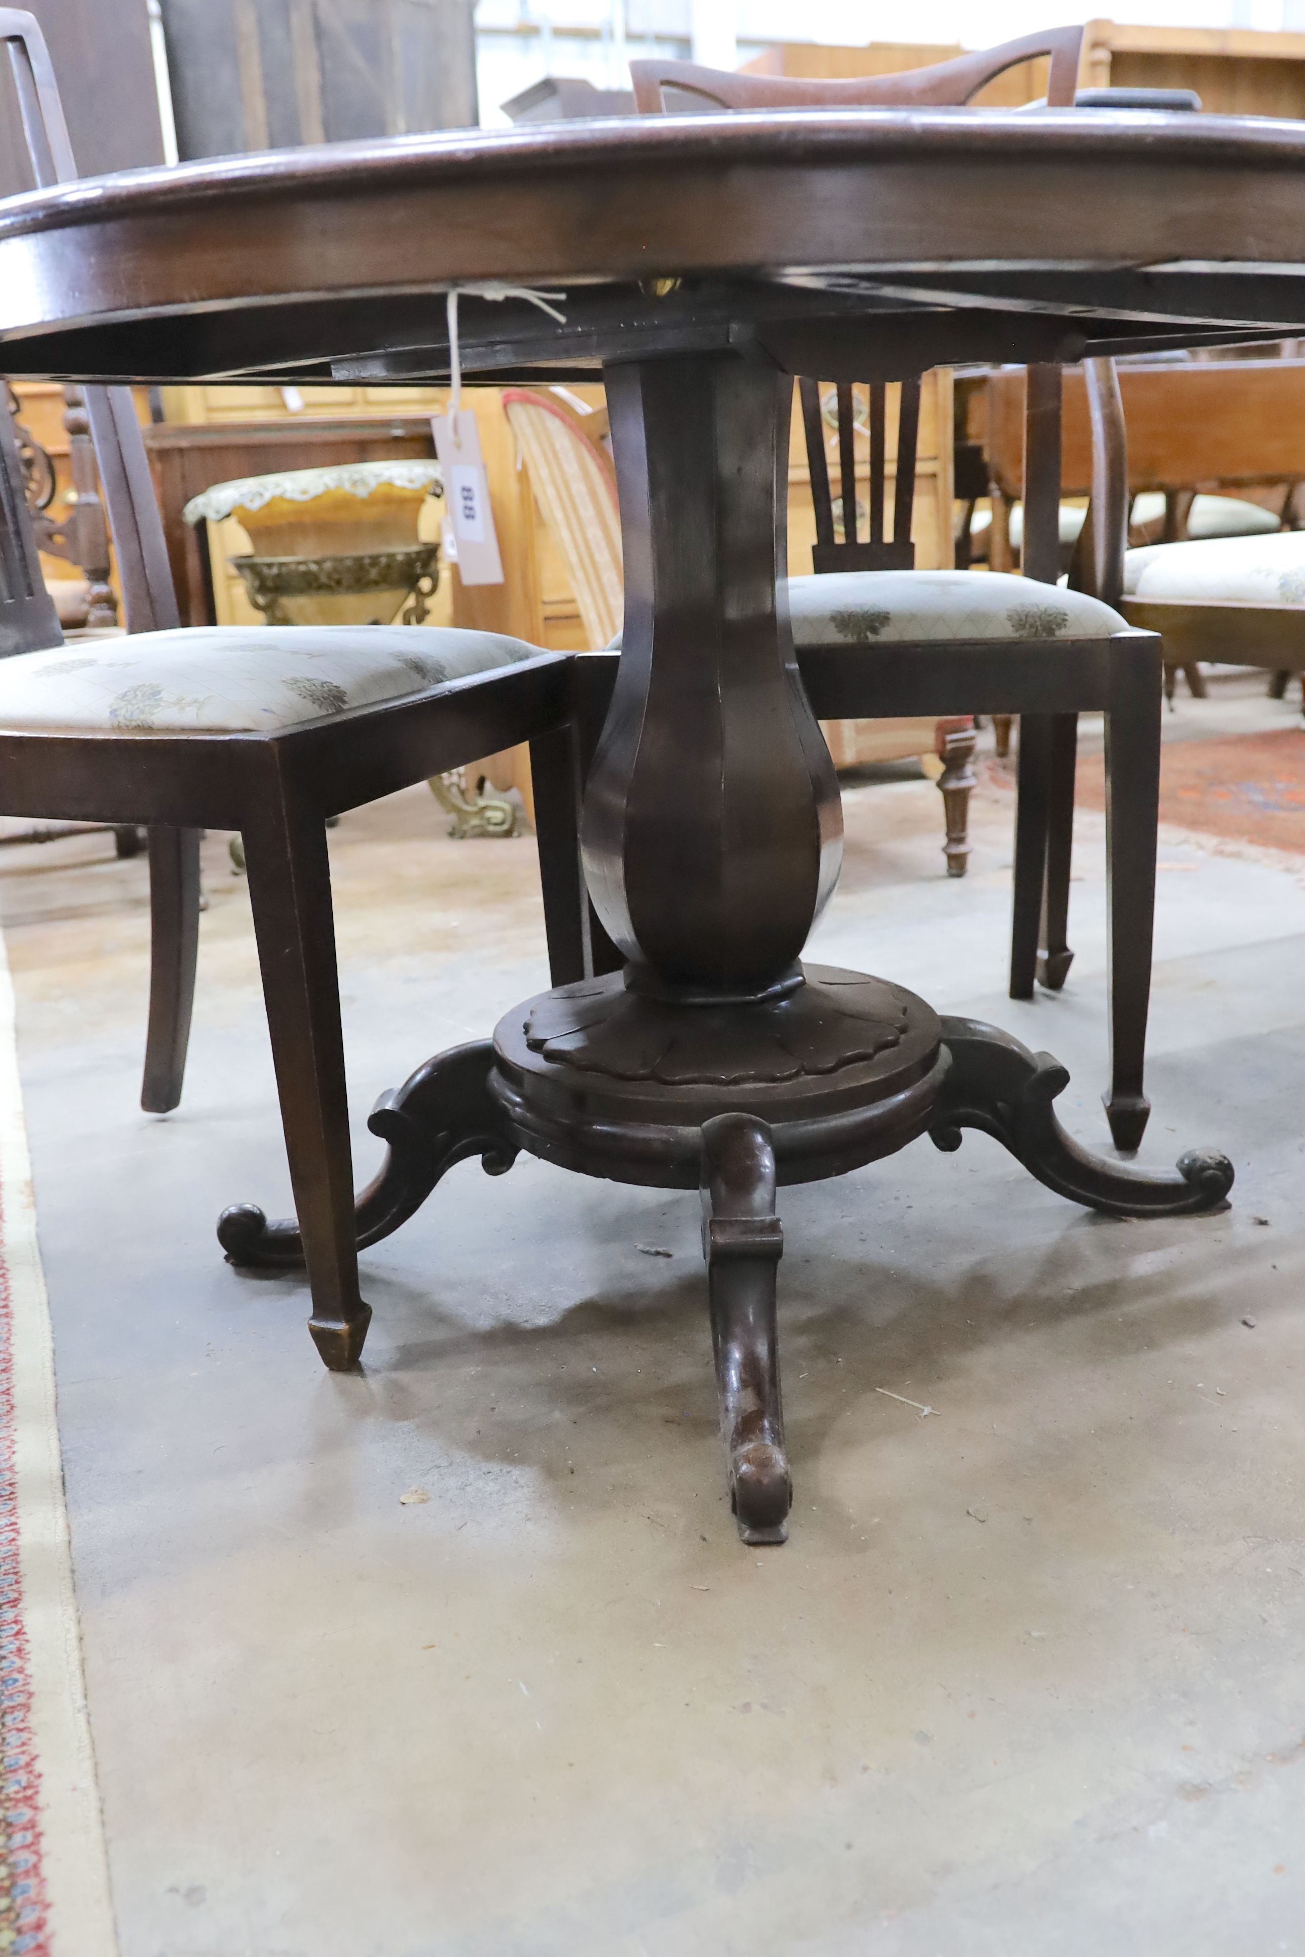
[[[1295,718],[1238,683],[1197,732]],[[440,830],[333,838],[360,1170],[376,1092],[544,982],[532,843]],[[1103,1147],[1100,818],[1033,1006],[1000,791],[963,883],[927,783],[847,830],[812,949],[1053,1049]],[[366,1256],[362,1378],[223,1264],[288,1176],[205,847],[168,1119],[143,865],[0,861],[123,1957],[1305,1951],[1305,859],[1160,851],[1145,1153],[1229,1149],[1225,1215],[1090,1217],[974,1135],[783,1192],[796,1507],[749,1552],[697,1200],[462,1164]]]

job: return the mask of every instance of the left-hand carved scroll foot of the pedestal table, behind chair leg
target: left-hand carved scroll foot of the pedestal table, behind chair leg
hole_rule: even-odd
[[[389,1153],[380,1174],[358,1196],[354,1223],[358,1249],[389,1237],[421,1209],[427,1196],[454,1162],[479,1155],[485,1174],[503,1176],[517,1161],[517,1143],[499,1104],[489,1094],[493,1045],[477,1039],[468,1047],[427,1061],[397,1092],[382,1094],[368,1127]],[[303,1262],[303,1241],[293,1217],[268,1223],[254,1204],[223,1209],[217,1241],[233,1264],[292,1266]],[[323,1337],[331,1327],[313,1325],[323,1358]],[[362,1327],[366,1333],[366,1325]],[[362,1348],[362,1335],[358,1337]],[[335,1364],[327,1358],[327,1364]]]

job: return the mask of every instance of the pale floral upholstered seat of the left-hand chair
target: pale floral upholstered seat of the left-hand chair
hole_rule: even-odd
[[[278,734],[534,660],[540,646],[440,626],[198,626],[0,660],[0,726]]]

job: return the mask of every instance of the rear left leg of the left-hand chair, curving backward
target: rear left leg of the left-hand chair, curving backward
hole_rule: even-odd
[[[200,953],[200,830],[149,832],[149,1031],[141,1108],[168,1114],[182,1098]]]

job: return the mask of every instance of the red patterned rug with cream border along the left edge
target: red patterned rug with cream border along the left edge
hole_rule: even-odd
[[[0,1953],[113,1957],[55,1368],[0,943]]]

